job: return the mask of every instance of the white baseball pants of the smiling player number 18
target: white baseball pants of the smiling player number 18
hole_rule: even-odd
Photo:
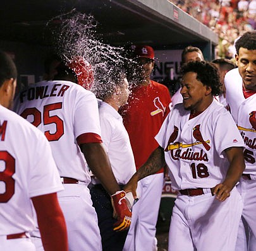
[[[236,187],[224,202],[211,193],[178,195],[169,229],[169,251],[234,251],[242,212]]]

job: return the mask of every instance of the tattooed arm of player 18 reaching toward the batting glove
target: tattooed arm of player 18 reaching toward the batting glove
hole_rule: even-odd
[[[126,192],[132,192],[133,197],[137,199],[136,189],[138,181],[158,172],[164,165],[166,165],[166,161],[164,160],[164,149],[159,146],[151,153],[145,164],[142,165],[130,178],[124,190]]]

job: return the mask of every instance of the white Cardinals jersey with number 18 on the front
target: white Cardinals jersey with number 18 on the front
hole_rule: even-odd
[[[222,182],[229,167],[224,150],[244,146],[229,112],[217,100],[197,117],[176,104],[155,136],[165,149],[172,187],[210,188]],[[224,126],[226,125],[226,126]]]

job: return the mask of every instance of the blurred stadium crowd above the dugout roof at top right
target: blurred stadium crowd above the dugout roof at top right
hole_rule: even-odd
[[[256,0],[169,0],[219,35],[217,57],[232,59],[235,39],[256,29]]]

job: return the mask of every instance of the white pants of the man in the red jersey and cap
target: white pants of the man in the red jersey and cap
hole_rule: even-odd
[[[131,226],[123,251],[155,250],[155,225],[163,183],[163,173],[150,175],[138,182],[137,191],[140,194],[140,199],[132,209]]]

